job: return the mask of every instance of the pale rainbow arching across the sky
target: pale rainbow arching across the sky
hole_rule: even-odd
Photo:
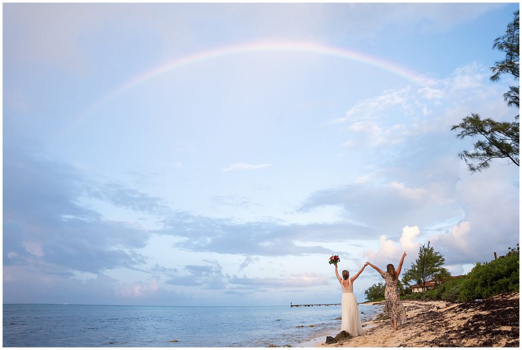
[[[401,67],[392,62],[388,62],[377,57],[373,57],[368,54],[364,54],[357,51],[340,49],[333,46],[325,46],[317,43],[299,43],[299,42],[259,42],[259,43],[248,43],[234,46],[226,46],[223,48],[212,49],[208,51],[198,52],[189,56],[181,57],[160,66],[154,67],[145,73],[141,73],[132,79],[129,79],[124,84],[111,90],[108,94],[104,95],[93,104],[91,104],[86,110],[84,110],[76,119],[80,121],[89,115],[92,111],[100,108],[105,103],[109,102],[116,96],[122,95],[125,91],[128,91],[140,84],[145,83],[157,76],[164,73],[171,72],[174,69],[179,69],[187,65],[196,64],[203,61],[216,59],[218,57],[244,54],[244,53],[255,53],[255,52],[303,52],[311,54],[319,54],[333,57],[340,57],[342,59],[352,60],[369,64],[384,71],[392,74],[404,77],[405,79],[412,81],[417,85],[423,85],[423,79],[420,75],[410,71],[405,67]]]

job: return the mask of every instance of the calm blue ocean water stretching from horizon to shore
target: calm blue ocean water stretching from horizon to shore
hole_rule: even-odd
[[[359,305],[361,319],[372,319],[381,308]],[[340,306],[4,304],[3,346],[297,347],[337,334],[340,313]]]

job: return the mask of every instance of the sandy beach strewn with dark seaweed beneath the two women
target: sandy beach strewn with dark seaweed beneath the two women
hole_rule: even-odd
[[[518,347],[519,293],[482,301],[403,301],[407,322],[395,332],[389,319],[367,322],[363,334],[316,347]]]

